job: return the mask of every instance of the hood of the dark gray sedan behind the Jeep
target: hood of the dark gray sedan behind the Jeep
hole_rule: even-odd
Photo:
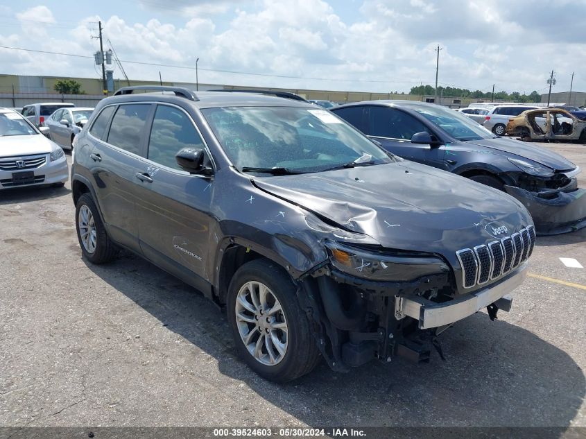
[[[525,157],[555,171],[569,171],[576,168],[576,165],[565,159],[565,157],[551,150],[527,144],[524,141],[499,137],[497,139],[469,140],[466,143],[485,146],[486,148],[496,149],[504,153]]]

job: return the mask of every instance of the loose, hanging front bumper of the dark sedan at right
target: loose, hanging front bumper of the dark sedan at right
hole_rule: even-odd
[[[505,185],[505,190],[523,203],[540,236],[574,232],[586,227],[586,189],[579,189],[575,178],[560,189],[531,192]]]

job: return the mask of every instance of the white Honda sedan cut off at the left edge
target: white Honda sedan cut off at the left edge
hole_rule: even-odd
[[[43,135],[44,130],[14,110],[0,107],[0,190],[65,184],[67,159],[62,148]]]

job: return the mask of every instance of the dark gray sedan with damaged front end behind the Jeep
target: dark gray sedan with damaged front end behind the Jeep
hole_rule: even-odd
[[[586,226],[580,168],[559,154],[498,137],[459,112],[416,101],[365,101],[330,109],[400,157],[506,191],[531,212],[537,234]]]

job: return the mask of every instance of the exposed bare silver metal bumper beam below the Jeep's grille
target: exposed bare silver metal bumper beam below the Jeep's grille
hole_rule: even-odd
[[[436,303],[419,296],[395,298],[395,317],[409,316],[418,321],[419,329],[430,329],[450,325],[494,304],[509,311],[512,299],[507,295],[524,281],[527,264],[523,264],[513,275],[490,288],[474,291],[449,302]]]

